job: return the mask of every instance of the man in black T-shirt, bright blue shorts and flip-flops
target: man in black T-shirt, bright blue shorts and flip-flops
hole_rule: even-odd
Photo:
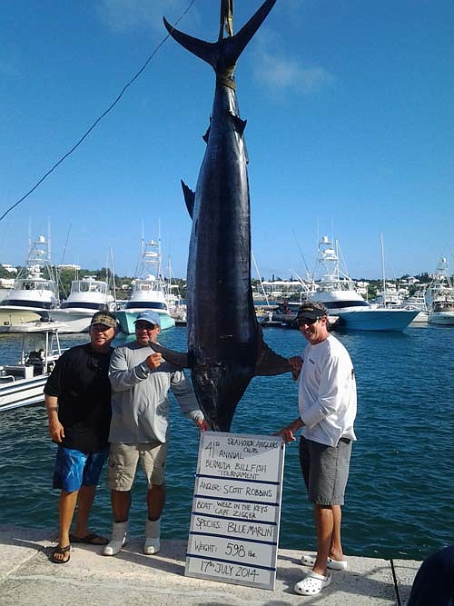
[[[58,444],[54,488],[61,489],[60,533],[51,561],[69,561],[71,542],[104,545],[88,530],[88,517],[103,464],[109,453],[111,343],[118,332],[114,313],[96,312],[90,343],[64,352],[44,386],[49,433]],[[75,504],[77,516],[70,534]]]

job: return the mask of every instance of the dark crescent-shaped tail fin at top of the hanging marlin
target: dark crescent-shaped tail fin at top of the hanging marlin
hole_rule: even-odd
[[[163,22],[167,31],[176,42],[193,55],[200,57],[203,61],[212,65],[212,68],[218,74],[228,68],[232,68],[236,64],[238,57],[262,25],[275,3],[276,0],[265,0],[262,6],[252,15],[247,24],[243,25],[237,34],[228,38],[222,38],[215,43],[205,42],[199,38],[192,37],[192,35],[183,34],[183,32],[170,25],[165,17],[163,17]]]

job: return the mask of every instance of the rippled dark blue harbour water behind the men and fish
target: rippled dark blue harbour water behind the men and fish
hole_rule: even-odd
[[[297,331],[267,329],[267,343],[284,355],[300,353]],[[355,365],[359,392],[350,482],[343,508],[343,544],[351,555],[421,560],[454,541],[454,330],[421,326],[404,333],[339,333]],[[64,346],[86,335],[62,337]],[[117,339],[118,343],[124,337]],[[177,327],[161,343],[185,349]],[[2,362],[14,361],[20,335],[0,334]],[[297,415],[290,376],[255,378],[239,403],[232,432],[268,434]],[[198,452],[195,426],[173,400],[163,538],[186,539]],[[0,415],[0,524],[57,527],[58,492],[51,488],[55,445],[44,406]],[[133,535],[142,535],[146,487],[140,471],[133,489]],[[104,482],[92,527],[109,533],[111,509]],[[311,504],[301,480],[296,443],[287,448],[280,546],[314,549]]]

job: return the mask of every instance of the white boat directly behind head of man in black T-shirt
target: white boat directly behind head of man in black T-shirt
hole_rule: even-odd
[[[108,283],[85,275],[82,280],[73,280],[68,298],[50,311],[49,317],[60,324],[59,333],[86,333],[95,312],[114,312],[114,308]]]

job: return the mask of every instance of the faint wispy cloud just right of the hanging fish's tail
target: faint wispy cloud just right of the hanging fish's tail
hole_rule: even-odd
[[[284,55],[279,36],[270,29],[264,30],[255,45],[254,65],[255,78],[275,92],[314,94],[335,81],[323,67],[303,65],[301,61]]]

